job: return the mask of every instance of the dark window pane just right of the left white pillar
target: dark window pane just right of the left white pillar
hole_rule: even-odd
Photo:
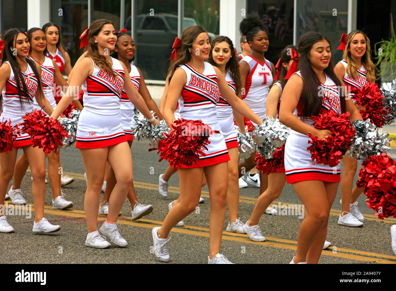
[[[62,9],[62,15],[59,15],[59,9]],[[50,19],[60,27],[63,47],[74,66],[84,52],[80,49],[80,35],[88,28],[88,0],[51,0]]]

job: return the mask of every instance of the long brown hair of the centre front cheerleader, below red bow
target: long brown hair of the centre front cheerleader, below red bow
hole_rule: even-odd
[[[191,48],[197,36],[200,35],[202,32],[206,32],[206,30],[199,25],[188,26],[183,30],[183,32],[181,33],[181,45],[179,53],[177,54],[178,59],[176,61],[173,61],[169,65],[168,82],[171,81],[177,67],[188,63],[191,60],[191,55],[188,49]]]

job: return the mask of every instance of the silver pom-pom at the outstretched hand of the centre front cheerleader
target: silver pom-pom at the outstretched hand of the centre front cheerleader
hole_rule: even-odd
[[[252,131],[257,150],[266,159],[272,159],[272,153],[286,143],[289,128],[279,122],[278,118],[266,117],[263,123]]]

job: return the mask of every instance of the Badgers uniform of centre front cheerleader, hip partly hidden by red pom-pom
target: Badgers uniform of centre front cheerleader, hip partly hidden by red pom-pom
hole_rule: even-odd
[[[210,144],[207,146],[208,150],[204,150],[205,156],[200,156],[200,160],[191,167],[182,166],[182,168],[206,167],[230,160],[216,116],[216,103],[219,101],[217,75],[211,64],[205,62],[204,65],[202,73],[188,64],[179,67],[187,75],[187,82],[179,97],[179,113],[181,118],[187,120],[200,119],[204,124],[209,125],[212,131],[220,133],[209,136]]]

